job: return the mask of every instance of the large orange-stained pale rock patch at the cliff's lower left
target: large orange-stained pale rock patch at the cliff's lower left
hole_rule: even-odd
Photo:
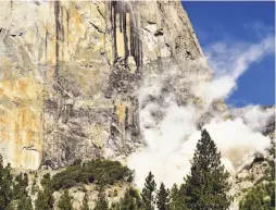
[[[38,169],[42,155],[42,84],[32,75],[0,82],[1,95],[16,106],[0,112],[0,151],[14,168]],[[0,106],[4,107],[5,104]],[[32,148],[26,149],[26,148]]]

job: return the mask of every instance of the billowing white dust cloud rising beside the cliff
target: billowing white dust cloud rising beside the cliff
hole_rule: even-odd
[[[231,94],[237,87],[237,78],[251,63],[273,52],[273,37],[251,46],[231,46],[235,49],[219,45],[212,47],[208,57],[211,65],[216,64],[212,65],[213,81],[208,79],[208,67],[201,60],[195,61],[197,67],[187,62],[146,73],[139,101],[141,132],[147,146],[128,158],[138,187],[143,186],[150,171],[158,183],[164,182],[167,187],[184,182],[200,139],[199,124],[202,122],[230,173],[250,163],[255,152],[264,152],[269,146],[269,138],[260,132],[274,114],[273,109],[265,111],[250,106],[235,110],[233,119],[227,109],[218,111],[213,106],[217,99]]]

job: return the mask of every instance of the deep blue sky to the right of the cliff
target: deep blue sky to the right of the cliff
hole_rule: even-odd
[[[214,72],[231,67],[235,60],[253,46],[275,36],[275,2],[262,1],[184,1],[199,42]],[[275,38],[271,39],[275,46]],[[216,50],[219,55],[213,58]],[[260,50],[261,51],[261,50]],[[263,50],[252,58],[236,79],[236,88],[226,102],[234,107],[275,103],[275,52]],[[218,61],[218,62],[217,62]],[[226,67],[227,65],[227,67]],[[219,69],[218,69],[219,67]],[[229,70],[231,71],[231,70]]]

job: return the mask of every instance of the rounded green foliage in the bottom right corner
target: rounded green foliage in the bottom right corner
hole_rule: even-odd
[[[240,210],[274,210],[275,183],[259,184],[248,190],[239,203]]]

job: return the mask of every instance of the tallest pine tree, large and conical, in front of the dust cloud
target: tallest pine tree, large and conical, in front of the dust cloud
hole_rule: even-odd
[[[221,153],[209,133],[203,129],[186,178],[185,194],[190,210],[225,210],[231,198],[227,195],[229,174],[221,163]]]

